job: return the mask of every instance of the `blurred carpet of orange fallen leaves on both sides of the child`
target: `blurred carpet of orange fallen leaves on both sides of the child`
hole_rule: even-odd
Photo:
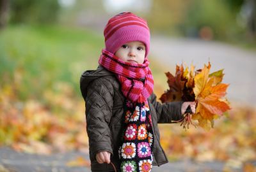
[[[31,154],[70,150],[88,153],[83,99],[72,97],[67,83],[55,87],[58,92],[45,90],[44,101],[20,101],[15,88],[0,87],[0,145]],[[239,104],[232,107],[228,117],[216,120],[214,129],[209,131],[194,127],[184,131],[179,124],[159,125],[161,144],[168,158],[222,161],[227,162],[227,167],[256,161],[256,110]],[[89,166],[81,158],[67,165]],[[252,164],[244,168],[252,169]]]

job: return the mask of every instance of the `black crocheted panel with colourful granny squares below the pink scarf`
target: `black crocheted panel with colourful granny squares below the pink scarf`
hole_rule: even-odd
[[[151,171],[154,134],[150,110],[145,103],[138,103],[134,108],[129,108],[128,104],[132,105],[126,104],[122,147],[118,150],[120,169],[129,172]]]

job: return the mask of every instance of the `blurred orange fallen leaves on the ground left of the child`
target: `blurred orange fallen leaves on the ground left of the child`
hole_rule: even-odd
[[[31,154],[88,152],[84,103],[66,83],[55,86],[58,92],[45,90],[44,102],[20,101],[12,86],[0,88],[0,145]]]

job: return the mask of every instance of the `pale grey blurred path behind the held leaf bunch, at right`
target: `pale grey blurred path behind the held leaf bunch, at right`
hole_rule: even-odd
[[[153,57],[172,69],[181,62],[189,66],[193,62],[199,69],[210,61],[211,72],[224,69],[223,83],[230,83],[227,92],[230,101],[256,105],[256,51],[250,52],[218,42],[161,36],[151,39],[150,51]]]

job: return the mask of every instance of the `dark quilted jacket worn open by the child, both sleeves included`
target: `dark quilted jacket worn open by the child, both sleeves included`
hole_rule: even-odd
[[[89,150],[92,171],[111,171],[110,164],[99,164],[95,155],[100,151],[111,152],[111,162],[118,167],[118,147],[122,132],[124,100],[120,83],[114,73],[99,66],[95,71],[85,71],[81,76],[80,89],[86,102],[86,130],[89,137]],[[160,166],[168,162],[159,142],[157,123],[171,123],[180,120],[182,102],[161,104],[156,95],[148,97],[152,114],[154,147],[153,165]]]

